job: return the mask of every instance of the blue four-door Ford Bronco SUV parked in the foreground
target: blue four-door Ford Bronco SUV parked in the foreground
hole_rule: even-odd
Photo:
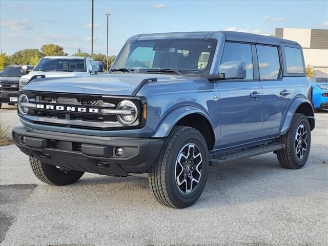
[[[309,157],[312,90],[299,44],[219,31],[129,38],[110,74],[36,78],[19,92],[13,139],[37,178],[148,176],[172,208],[200,197],[209,167],[273,152]]]

